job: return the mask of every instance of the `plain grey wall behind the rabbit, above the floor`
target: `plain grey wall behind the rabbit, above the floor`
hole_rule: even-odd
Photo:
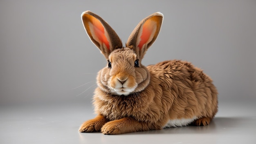
[[[2,0],[0,104],[90,101],[106,60],[83,29],[85,10],[106,20],[123,43],[140,20],[162,12],[144,65],[187,60],[213,79],[220,102],[255,100],[255,0]]]

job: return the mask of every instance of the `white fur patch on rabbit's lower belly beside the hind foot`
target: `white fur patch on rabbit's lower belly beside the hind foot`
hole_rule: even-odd
[[[177,126],[187,126],[191,122],[193,122],[196,119],[196,117],[190,118],[190,119],[176,119],[176,120],[169,120],[163,128],[170,128],[170,127],[177,127]]]

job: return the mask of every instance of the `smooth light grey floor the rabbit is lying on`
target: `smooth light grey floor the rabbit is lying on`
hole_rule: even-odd
[[[80,124],[94,117],[89,103],[1,106],[0,144],[255,144],[254,103],[220,102],[219,112],[209,126],[123,135],[79,133]]]

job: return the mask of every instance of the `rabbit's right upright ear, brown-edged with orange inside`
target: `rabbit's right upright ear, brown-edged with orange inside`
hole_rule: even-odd
[[[137,54],[142,59],[147,49],[155,42],[163,18],[162,13],[156,12],[141,20],[129,36],[126,47],[135,47]]]

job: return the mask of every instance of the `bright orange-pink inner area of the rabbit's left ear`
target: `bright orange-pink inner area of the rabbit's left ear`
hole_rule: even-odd
[[[98,38],[98,40],[100,42],[102,42],[106,45],[108,50],[110,50],[109,42],[105,35],[105,31],[104,31],[105,29],[104,29],[103,25],[97,19],[94,19],[92,21],[92,23],[93,23],[93,30],[94,30],[95,36]]]

